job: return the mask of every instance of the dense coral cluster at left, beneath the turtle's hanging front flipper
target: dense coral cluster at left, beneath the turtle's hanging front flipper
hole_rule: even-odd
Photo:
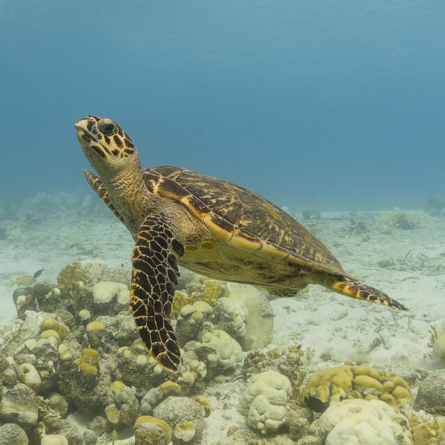
[[[193,277],[179,291],[187,297],[177,314],[184,350],[181,369],[171,374],[139,339],[128,278],[103,264],[74,263],[60,271],[57,285],[36,282],[14,291],[18,318],[0,330],[6,437],[17,430],[17,440],[31,444],[201,442],[204,417],[211,414],[202,391],[218,375],[240,373],[243,352],[236,338],[258,330],[254,324],[270,306],[260,304],[266,298],[256,291],[246,305],[236,298],[241,289]],[[270,337],[263,336],[261,345]],[[90,416],[88,430],[71,423],[72,411]],[[133,437],[120,439],[131,427]]]

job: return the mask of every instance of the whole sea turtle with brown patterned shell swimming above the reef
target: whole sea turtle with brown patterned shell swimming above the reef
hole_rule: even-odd
[[[143,170],[127,133],[89,115],[74,125],[99,176],[86,179],[136,241],[130,302],[149,352],[177,371],[180,351],[170,324],[178,264],[202,275],[262,286],[290,296],[321,284],[343,295],[405,310],[361,284],[288,213],[241,186],[163,166]]]

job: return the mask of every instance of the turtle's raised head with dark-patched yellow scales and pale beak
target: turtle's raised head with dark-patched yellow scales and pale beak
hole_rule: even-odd
[[[74,128],[83,153],[99,174],[139,161],[131,138],[113,120],[90,115],[76,122]]]

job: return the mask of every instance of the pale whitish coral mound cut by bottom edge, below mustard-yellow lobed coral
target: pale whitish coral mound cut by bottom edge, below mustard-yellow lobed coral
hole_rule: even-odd
[[[387,403],[363,399],[331,404],[318,433],[325,445],[412,445],[407,418]]]

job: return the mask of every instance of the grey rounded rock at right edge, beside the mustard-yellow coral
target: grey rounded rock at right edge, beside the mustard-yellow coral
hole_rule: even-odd
[[[419,385],[415,410],[445,416],[445,370],[431,371]]]

